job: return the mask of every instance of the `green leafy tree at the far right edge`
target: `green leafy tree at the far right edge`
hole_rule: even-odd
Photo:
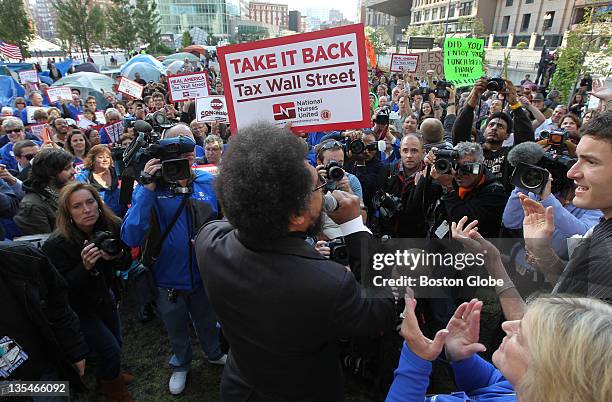
[[[584,20],[568,32],[565,47],[560,49],[557,69],[551,87],[561,92],[564,101],[571,100],[578,80],[586,73],[610,74],[606,62],[612,56],[610,46],[602,47],[601,40],[609,40],[612,35],[610,18],[612,12],[594,15],[593,9],[585,9]],[[600,39],[601,38],[601,39]],[[587,55],[592,60],[585,62]]]

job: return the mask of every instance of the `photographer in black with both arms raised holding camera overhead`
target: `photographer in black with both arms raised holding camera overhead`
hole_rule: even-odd
[[[494,79],[495,80],[495,79]],[[486,77],[482,77],[474,84],[474,88],[470,92],[465,106],[457,116],[455,125],[453,126],[453,144],[458,144],[462,141],[469,141],[472,126],[474,123],[474,110],[478,107],[480,97],[487,89],[492,88],[495,84],[496,88],[501,86],[501,79],[490,82]],[[510,133],[514,132],[514,145],[525,141],[533,141],[533,127],[529,116],[523,110],[521,103],[518,101],[516,89],[511,81],[505,80],[501,93],[507,96],[508,104],[512,109],[512,117],[504,112],[494,113],[487,118],[486,127],[484,130],[484,144],[482,145],[484,154],[484,164],[495,178],[504,186],[507,193],[512,191],[510,185],[510,176],[512,169],[506,160],[506,156],[512,146],[504,146],[504,141]]]

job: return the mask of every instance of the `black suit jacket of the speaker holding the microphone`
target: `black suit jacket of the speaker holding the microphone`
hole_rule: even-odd
[[[368,239],[347,236],[349,254]],[[388,291],[365,297],[351,272],[300,237],[248,240],[214,221],[200,231],[196,255],[230,344],[222,401],[340,401],[337,340],[393,327]]]

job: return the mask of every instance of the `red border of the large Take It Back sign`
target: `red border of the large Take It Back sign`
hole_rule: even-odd
[[[244,52],[247,50],[262,49],[267,47],[276,47],[288,45],[291,43],[307,42],[316,39],[329,38],[333,36],[355,34],[357,40],[357,64],[359,67],[359,77],[361,85],[361,115],[362,120],[348,121],[342,123],[330,123],[330,124],[315,124],[310,126],[297,126],[292,128],[293,131],[298,132],[315,132],[315,131],[331,131],[331,130],[346,130],[351,128],[365,128],[371,127],[372,122],[370,121],[370,95],[369,95],[369,82],[368,82],[368,66],[366,62],[366,51],[365,51],[365,32],[364,25],[352,24],[345,25],[338,28],[330,28],[322,31],[314,31],[297,35],[289,35],[280,38],[264,39],[255,42],[240,43],[237,45],[222,46],[217,48],[217,58],[219,60],[219,70],[221,72],[221,79],[223,81],[225,100],[227,101],[227,112],[229,114],[230,127],[232,133],[237,133],[236,125],[236,111],[234,110],[234,99],[232,97],[232,91],[230,88],[229,75],[227,71],[227,64],[225,63],[225,57],[232,53]],[[289,123],[289,122],[287,122]]]

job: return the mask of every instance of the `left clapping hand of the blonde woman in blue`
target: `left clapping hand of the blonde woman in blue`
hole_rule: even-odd
[[[436,333],[433,341],[423,335],[419,328],[414,309],[416,299],[406,295],[404,297],[406,307],[404,308],[404,320],[400,329],[400,334],[406,340],[406,344],[412,352],[423,360],[435,360],[444,347],[444,342],[449,335],[447,329],[441,329]]]

